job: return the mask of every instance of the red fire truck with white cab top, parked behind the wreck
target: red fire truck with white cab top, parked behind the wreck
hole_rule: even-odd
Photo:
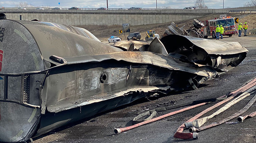
[[[223,35],[227,35],[231,37],[233,34],[237,33],[236,24],[233,17],[223,17],[223,18],[215,18],[212,20],[201,21],[204,26],[200,29],[201,34],[204,38],[208,38],[208,36],[212,36],[216,38],[216,27],[217,25],[223,26],[224,33]]]

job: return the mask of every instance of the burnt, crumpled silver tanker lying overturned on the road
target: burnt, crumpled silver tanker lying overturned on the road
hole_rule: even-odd
[[[240,51],[230,50],[220,67],[214,61],[224,63],[222,54],[185,36],[183,47],[168,37],[115,47],[85,29],[49,22],[0,20],[0,31],[0,142],[25,142],[154,93],[196,89],[197,81],[236,66],[247,52],[231,45]]]

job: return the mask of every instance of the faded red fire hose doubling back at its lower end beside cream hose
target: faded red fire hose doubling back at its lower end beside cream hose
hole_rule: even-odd
[[[197,114],[196,116],[190,118],[187,122],[192,122],[194,120],[196,120],[197,118],[199,118],[200,116],[204,115],[205,113],[213,110],[214,108],[224,104],[225,102],[231,100],[232,98],[234,98],[235,96],[239,95],[240,93],[246,91],[247,89],[253,87],[254,85],[256,85],[255,83],[256,81],[256,78],[254,79],[251,79],[251,80],[248,80],[246,81],[245,83],[243,83],[239,89],[237,89],[236,91],[232,91],[232,92],[229,92],[228,94],[229,95],[232,95],[230,96],[229,98],[221,101],[221,102],[218,102],[217,104],[215,104],[214,106],[212,107],[209,107],[208,109],[205,109],[204,111],[200,112],[199,114]],[[198,133],[194,132],[194,133],[184,133],[183,130],[186,129],[185,128],[185,123],[182,124],[178,129],[177,131],[175,132],[174,134],[174,138],[179,138],[179,139],[197,139],[198,138]]]

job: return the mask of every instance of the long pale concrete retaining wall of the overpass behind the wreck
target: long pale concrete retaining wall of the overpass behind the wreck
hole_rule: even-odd
[[[212,13],[229,13],[225,9],[204,10],[0,10],[8,19],[38,19],[40,21],[62,23],[66,25],[147,25],[171,21],[192,19]]]

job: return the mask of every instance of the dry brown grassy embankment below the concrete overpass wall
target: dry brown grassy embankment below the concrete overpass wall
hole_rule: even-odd
[[[238,17],[239,22],[247,22],[249,29],[256,28],[256,14],[250,14],[250,13],[229,13],[227,16],[232,17]],[[199,20],[209,20],[214,19],[215,17],[219,17],[219,14],[210,14],[203,17],[198,17]],[[193,19],[189,20],[181,20],[181,21],[173,21],[178,27],[182,27],[185,25],[184,29],[189,29],[193,24]],[[171,24],[171,22],[168,23],[160,23],[160,24],[151,24],[151,25],[139,25],[139,26],[130,26],[131,32],[140,32],[141,38],[145,39],[146,31],[148,30],[155,30],[157,34],[160,36],[165,32],[165,29]],[[85,28],[89,30],[91,33],[93,33],[97,38],[100,39],[100,41],[108,41],[108,38],[110,36],[118,36],[122,39],[125,39],[125,35],[119,34],[118,30],[122,29],[121,25],[113,25],[113,26],[96,26],[96,25],[89,25],[89,26],[79,26],[82,28]],[[128,33],[126,33],[126,36]]]

